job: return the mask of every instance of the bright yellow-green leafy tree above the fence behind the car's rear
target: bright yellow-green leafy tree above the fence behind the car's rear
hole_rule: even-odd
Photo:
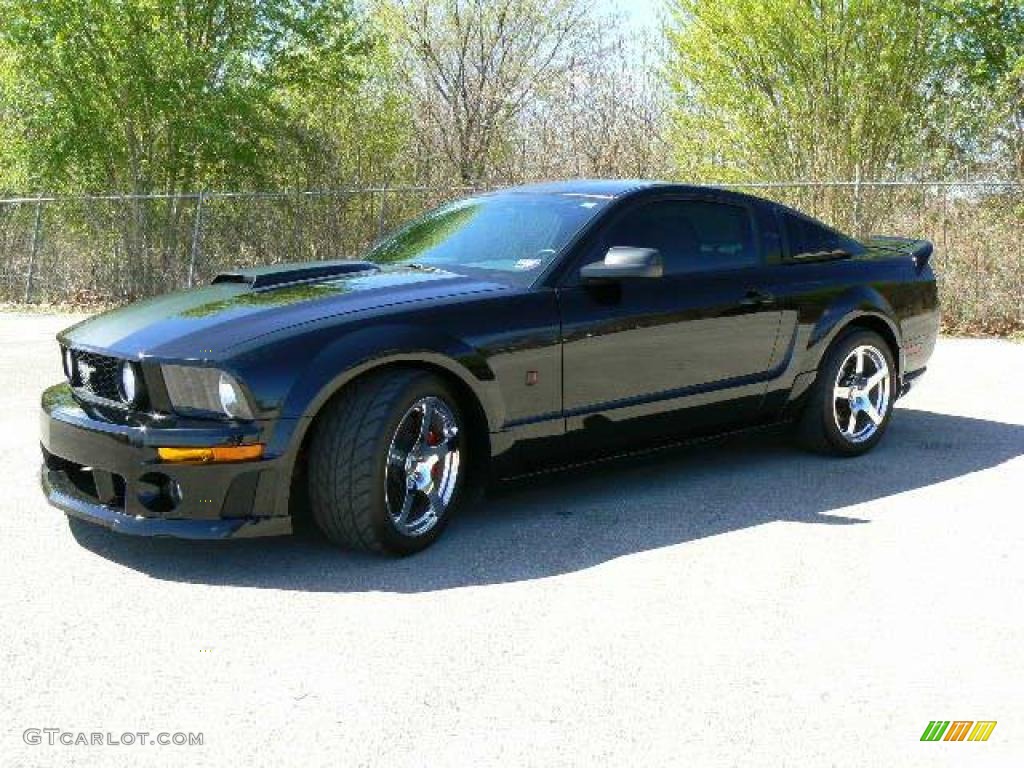
[[[919,165],[937,15],[923,0],[678,0],[676,159],[697,179],[884,179]]]

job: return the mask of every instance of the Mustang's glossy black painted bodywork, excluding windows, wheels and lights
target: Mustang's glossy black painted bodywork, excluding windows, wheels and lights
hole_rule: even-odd
[[[797,263],[787,258],[782,209],[749,196],[649,182],[528,189],[611,198],[530,287],[411,266],[262,290],[242,280],[274,269],[264,267],[62,332],[62,345],[138,360],[151,407],[128,413],[78,401],[67,384],[47,390],[43,477],[51,503],[127,532],[216,538],[286,530],[291,479],[316,413],[349,381],[381,366],[425,366],[449,378],[480,427],[474,449],[492,471],[506,473],[563,449],[612,450],[786,418],[829,343],[851,323],[891,340],[901,380],[919,373],[932,352],[935,279],[927,262],[907,255],[911,241],[868,242],[853,258]],[[601,257],[595,249],[608,222],[667,197],[749,208],[761,263],[583,285],[579,269]],[[231,373],[255,420],[171,415],[161,362]],[[159,445],[256,441],[267,446],[259,462],[174,466],[156,457]],[[56,487],[61,460],[125,476],[123,514],[103,504],[90,512],[72,489]],[[159,518],[135,499],[137,478],[156,470],[183,488],[180,506]],[[162,522],[147,527],[147,520]],[[168,521],[180,524],[168,530]]]

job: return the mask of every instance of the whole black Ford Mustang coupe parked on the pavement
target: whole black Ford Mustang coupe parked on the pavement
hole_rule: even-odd
[[[870,450],[939,326],[931,244],[717,188],[568,181],[427,213],[57,337],[42,485],[114,530],[433,542],[496,474],[793,422]]]

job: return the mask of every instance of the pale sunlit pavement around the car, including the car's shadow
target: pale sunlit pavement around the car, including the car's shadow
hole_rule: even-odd
[[[0,313],[0,764],[1024,764],[1024,344],[942,340],[868,456],[577,469],[388,560],[70,524],[38,398],[71,321]]]

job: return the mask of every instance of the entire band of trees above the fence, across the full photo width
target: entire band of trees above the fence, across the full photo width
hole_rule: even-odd
[[[1024,0],[669,10],[663,83],[584,0],[0,0],[0,194],[1024,178]]]

